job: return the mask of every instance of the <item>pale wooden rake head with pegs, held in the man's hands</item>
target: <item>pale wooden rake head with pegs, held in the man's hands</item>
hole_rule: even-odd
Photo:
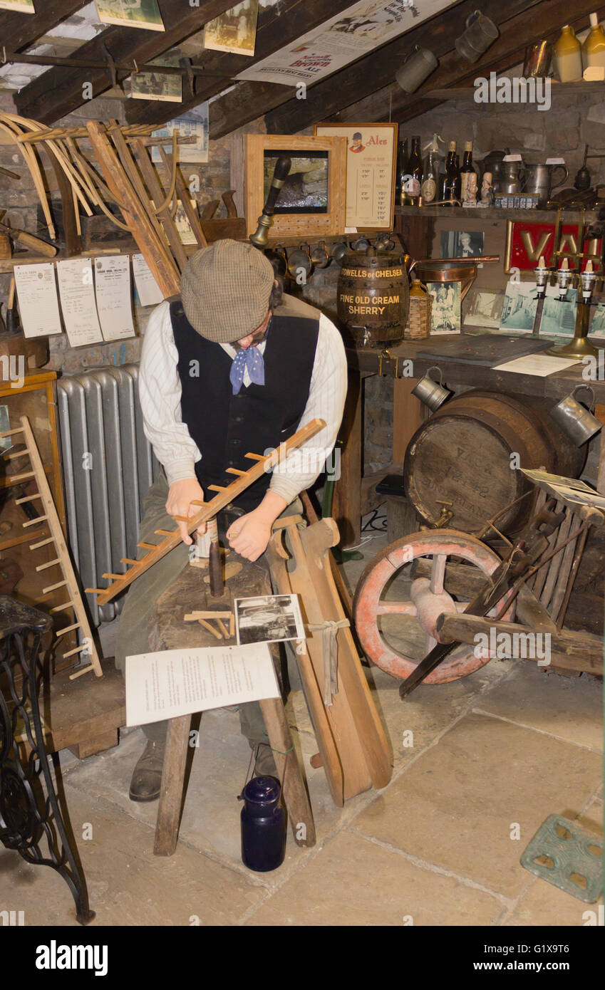
[[[281,460],[289,453],[290,450],[294,449],[301,444],[306,443],[311,440],[323,430],[326,426],[323,420],[312,420],[307,426],[303,427],[290,437],[289,440],[280,444],[272,453],[268,456],[263,456],[259,453],[247,453],[246,457],[255,460],[256,463],[248,471],[241,471],[236,467],[226,468],[227,473],[237,474],[238,477],[232,484],[227,485],[225,488],[219,485],[209,485],[209,489],[216,491],[219,494],[216,495],[210,502],[193,502],[192,505],[201,505],[203,509],[196,513],[195,516],[174,516],[173,518],[177,522],[184,522],[187,524],[187,533],[191,534],[197,530],[201,523],[206,523],[209,519],[213,519],[217,513],[224,509],[225,506],[229,505],[234,501],[239,495],[242,494],[247,488],[252,485],[254,481],[261,478],[262,475],[268,471],[272,470]],[[128,570],[124,574],[103,574],[105,578],[111,578],[112,584],[108,588],[86,588],[86,592],[97,595],[97,603],[99,605],[106,605],[110,602],[112,598],[128,588],[133,581],[136,581],[138,577],[141,576],[146,570],[149,570],[154,563],[161,560],[166,553],[178,546],[182,537],[180,530],[176,529],[173,531],[166,530],[156,530],[157,536],[163,537],[164,539],[159,544],[138,544],[143,549],[148,550],[148,552],[140,560],[130,560],[126,557],[122,559],[122,563],[128,564]]]

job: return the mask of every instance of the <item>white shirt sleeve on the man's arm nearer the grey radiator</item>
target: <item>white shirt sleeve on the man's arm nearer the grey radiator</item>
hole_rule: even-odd
[[[177,370],[170,306],[164,301],[151,313],[141,354],[139,398],[145,435],[166,472],[169,485],[195,477],[201,453],[181,418],[181,384]]]

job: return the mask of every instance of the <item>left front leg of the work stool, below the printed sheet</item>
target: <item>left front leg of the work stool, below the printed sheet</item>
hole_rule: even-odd
[[[171,856],[178,841],[190,726],[190,715],[182,715],[180,718],[170,719],[168,722],[166,752],[161,771],[159,808],[155,823],[155,841],[153,842],[153,855],[155,856]]]

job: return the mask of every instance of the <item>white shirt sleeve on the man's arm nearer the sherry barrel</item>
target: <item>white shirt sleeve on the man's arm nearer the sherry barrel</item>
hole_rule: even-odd
[[[347,356],[343,339],[327,316],[322,314],[311,374],[309,398],[298,429],[311,420],[324,420],[326,426],[306,444],[291,450],[273,469],[269,488],[289,504],[321,474],[338,437],[347,396]]]

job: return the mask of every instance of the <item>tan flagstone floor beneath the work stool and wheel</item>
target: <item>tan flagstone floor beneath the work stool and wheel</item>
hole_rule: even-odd
[[[365,560],[346,564],[352,586],[384,544],[373,535]],[[401,702],[399,681],[376,667],[366,673],[392,745],[392,781],[335,807],[323,770],[309,763],[317,746],[302,694],[293,692],[288,711],[318,841],[301,849],[289,834],[285,862],[272,873],[252,873],[240,857],[237,795],[250,749],[237,714],[202,718],[168,858],[151,852],[157,805],[128,797],[141,730],[124,731],[119,746],[88,759],[63,753],[93,926],[585,925],[597,907],[519,859],[553,813],[601,833],[602,682],[492,660]],[[0,892],[0,910],[24,911],[26,925],[77,924],[64,882],[4,848]]]

